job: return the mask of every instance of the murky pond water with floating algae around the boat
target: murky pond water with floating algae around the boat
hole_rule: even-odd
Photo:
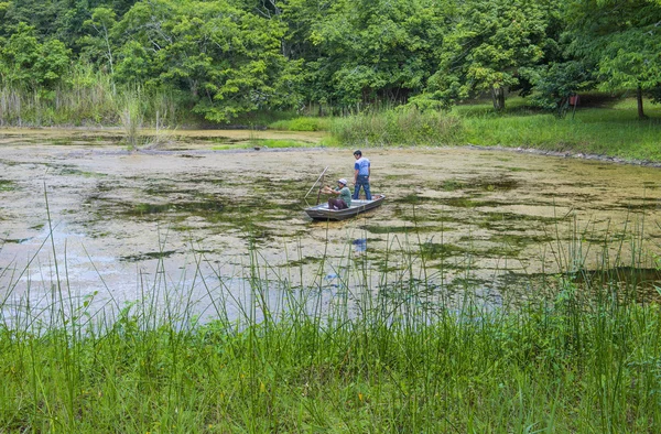
[[[386,194],[386,204],[326,224],[303,211],[316,191],[304,196],[326,166],[327,183],[351,178],[351,150],[213,151],[205,133],[129,153],[113,144],[115,131],[0,131],[8,305],[29,300],[47,311],[64,286],[96,306],[158,292],[167,294],[163,305],[213,316],[209,297],[224,292],[235,316],[239,299],[251,302],[254,273],[315,286],[324,304],[360,286],[358,274],[394,299],[405,296],[402,281],[422,280],[442,297],[470,289],[501,305],[531,295],[533,279],[626,267],[632,251],[649,252],[652,263],[660,251],[659,169],[474,149],[365,149],[372,192]],[[218,143],[249,132],[208,134]],[[280,303],[277,291],[270,297]]]

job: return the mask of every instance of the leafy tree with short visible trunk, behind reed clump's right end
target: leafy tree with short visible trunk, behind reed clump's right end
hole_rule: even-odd
[[[431,97],[452,105],[488,91],[505,108],[505,93],[520,84],[519,68],[540,63],[556,2],[470,0],[462,3],[427,83]]]

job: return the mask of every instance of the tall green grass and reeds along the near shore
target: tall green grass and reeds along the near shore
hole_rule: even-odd
[[[215,312],[198,323],[162,262],[138,302],[98,312],[68,302],[59,264],[48,321],[10,306],[19,294],[1,306],[0,431],[659,432],[661,310],[627,295],[636,282],[574,279],[589,251],[575,234],[553,248],[553,284],[532,289],[549,295],[517,310],[485,308],[470,286],[445,305],[411,268],[373,276],[366,258],[323,258],[305,278],[253,248],[245,297],[197,268]],[[605,272],[647,267],[600,258]],[[9,270],[11,294],[21,272]]]

